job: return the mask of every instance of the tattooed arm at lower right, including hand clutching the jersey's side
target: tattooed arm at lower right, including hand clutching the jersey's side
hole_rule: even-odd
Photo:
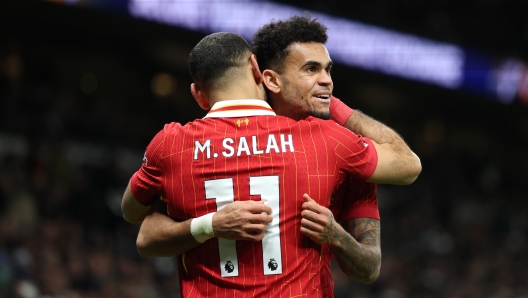
[[[329,209],[307,194],[304,198],[301,233],[319,244],[329,245],[348,277],[364,284],[374,282],[381,266],[379,221],[356,218],[347,221],[343,228]]]

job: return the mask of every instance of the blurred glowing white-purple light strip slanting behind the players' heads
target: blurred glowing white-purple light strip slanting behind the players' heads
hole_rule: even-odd
[[[75,4],[75,1],[64,1]],[[81,1],[101,7],[99,1]],[[230,31],[251,40],[263,24],[305,9],[255,0],[122,0],[132,17],[190,30]],[[115,10],[115,5],[112,6]],[[309,11],[329,30],[332,58],[351,67],[381,72],[448,89],[471,92],[504,104],[528,102],[527,64],[454,44]]]

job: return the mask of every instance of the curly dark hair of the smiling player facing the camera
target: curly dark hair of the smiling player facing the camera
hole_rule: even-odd
[[[260,70],[271,69],[281,72],[288,47],[294,42],[320,42],[328,40],[326,26],[311,19],[310,14],[293,16],[262,26],[253,36],[251,47],[257,55]]]

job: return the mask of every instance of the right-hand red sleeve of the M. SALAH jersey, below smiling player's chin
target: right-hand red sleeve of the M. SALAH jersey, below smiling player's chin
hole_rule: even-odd
[[[326,122],[330,127],[328,137],[335,142],[337,166],[352,177],[369,179],[378,164],[378,153],[372,141],[334,121]]]

